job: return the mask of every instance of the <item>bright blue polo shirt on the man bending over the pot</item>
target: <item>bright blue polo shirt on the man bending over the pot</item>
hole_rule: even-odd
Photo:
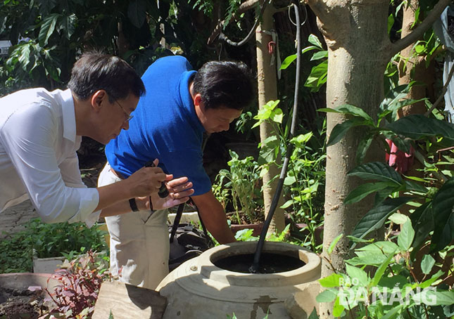
[[[196,72],[182,56],[156,60],[142,76],[146,95],[139,100],[130,129],[106,145],[111,167],[130,176],[155,158],[159,167],[174,178],[187,176],[194,195],[211,190],[203,169],[203,128],[189,93]]]

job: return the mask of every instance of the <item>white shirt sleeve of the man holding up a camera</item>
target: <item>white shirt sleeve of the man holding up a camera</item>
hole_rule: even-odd
[[[68,158],[58,166],[56,152],[63,151],[58,149],[63,138],[59,120],[43,105],[20,109],[1,128],[1,143],[44,222],[87,221],[91,226],[99,193],[75,178],[77,159]]]

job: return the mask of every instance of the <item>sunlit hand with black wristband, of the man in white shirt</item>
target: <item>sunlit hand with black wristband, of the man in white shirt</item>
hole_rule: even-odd
[[[165,185],[169,190],[169,195],[160,198],[158,193],[152,193],[149,198],[153,204],[153,209],[165,209],[173,207],[177,204],[182,204],[189,200],[189,196],[194,194],[192,182],[188,181],[187,177],[180,177],[172,179],[172,175],[167,175],[165,178]],[[149,201],[146,202],[147,209],[150,209]]]

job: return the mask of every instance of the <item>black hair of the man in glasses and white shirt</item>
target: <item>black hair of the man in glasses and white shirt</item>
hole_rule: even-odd
[[[68,88],[81,100],[105,90],[111,103],[130,93],[137,97],[145,94],[144,82],[125,60],[98,52],[84,53],[74,63]]]

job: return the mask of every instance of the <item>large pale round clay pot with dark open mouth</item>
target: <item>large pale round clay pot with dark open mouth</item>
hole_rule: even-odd
[[[281,273],[239,273],[215,266],[232,256],[253,254],[256,242],[234,242],[220,245],[183,263],[160,282],[157,290],[168,299],[163,319],[237,318],[289,319],[284,303],[294,299],[296,292],[305,292],[308,312],[316,306],[318,289],[313,287],[320,278],[321,260],[303,247],[284,242],[265,242],[263,252],[305,263]],[[300,317],[304,318],[304,316]]]

